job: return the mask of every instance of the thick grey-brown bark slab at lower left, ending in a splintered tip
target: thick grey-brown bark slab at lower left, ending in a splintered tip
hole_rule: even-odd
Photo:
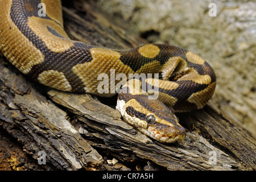
[[[67,113],[32,88],[20,73],[1,65],[0,79],[1,125],[28,154],[39,159],[43,151],[46,162],[59,169],[102,163],[102,157],[67,120]]]

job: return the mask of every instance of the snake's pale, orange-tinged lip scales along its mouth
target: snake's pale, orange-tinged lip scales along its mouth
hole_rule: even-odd
[[[186,137],[185,130],[174,132],[168,135],[164,135],[157,131],[154,127],[149,126],[148,130],[145,132],[148,137],[154,138],[155,140],[158,140],[159,142],[164,143],[182,143],[184,138]]]

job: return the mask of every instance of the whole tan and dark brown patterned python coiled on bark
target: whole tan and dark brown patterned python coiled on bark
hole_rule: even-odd
[[[134,77],[122,85],[125,92],[118,94],[116,109],[125,121],[160,142],[183,142],[185,129],[173,113],[201,109],[214,93],[212,67],[184,48],[146,44],[116,50],[71,40],[63,28],[59,0],[0,0],[0,7],[3,55],[41,84],[66,92],[100,94],[100,73],[110,76],[113,69],[115,76],[158,73],[158,84],[151,85],[158,90],[158,100],[148,99],[148,90],[141,86],[157,78]]]

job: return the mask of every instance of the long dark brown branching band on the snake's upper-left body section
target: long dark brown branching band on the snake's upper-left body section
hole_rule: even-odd
[[[92,60],[90,56],[90,46],[85,43],[77,42],[74,43],[75,46],[67,49],[66,51],[57,53],[52,52],[46,47],[46,44],[41,40],[28,26],[27,19],[29,16],[38,16],[38,4],[41,1],[20,1],[13,0],[13,5],[11,7],[11,19],[14,24],[19,28],[19,30],[38,48],[46,58],[43,63],[34,65],[27,76],[38,81],[38,75],[43,71],[56,70],[63,72],[69,84],[72,86],[73,92],[85,92],[84,83],[79,79],[79,77],[73,73],[72,67],[76,64],[82,64]],[[42,16],[40,18],[50,19],[48,16]],[[53,35],[60,36],[52,28],[47,27]],[[61,36],[60,36],[61,37]]]

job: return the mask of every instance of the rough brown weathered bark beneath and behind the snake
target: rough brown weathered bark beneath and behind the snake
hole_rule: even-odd
[[[64,23],[71,38],[110,48],[146,43],[106,18],[93,2],[67,3]],[[177,114],[187,129],[182,144],[151,140],[122,121],[114,105],[115,98],[49,89],[19,73],[2,57],[1,131],[21,143],[29,158],[24,162],[22,155],[6,155],[5,142],[1,142],[2,156],[9,157],[2,161],[14,159],[11,169],[256,169],[255,139],[213,102],[204,109]],[[47,155],[45,165],[32,159],[39,159],[39,151]],[[118,163],[108,164],[107,159],[113,158]]]

